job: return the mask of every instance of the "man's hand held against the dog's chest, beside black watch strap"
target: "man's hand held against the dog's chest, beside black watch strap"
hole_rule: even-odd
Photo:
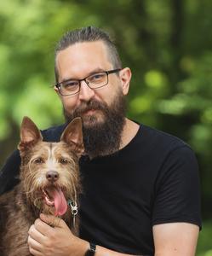
[[[50,224],[54,223],[54,228]],[[28,245],[34,256],[81,256],[89,247],[87,241],[73,236],[66,223],[41,214],[28,231]]]

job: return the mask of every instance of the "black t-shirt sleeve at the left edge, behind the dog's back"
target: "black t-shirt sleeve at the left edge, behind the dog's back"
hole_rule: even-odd
[[[15,150],[6,160],[0,171],[0,195],[14,188],[19,183],[20,173],[20,154]]]

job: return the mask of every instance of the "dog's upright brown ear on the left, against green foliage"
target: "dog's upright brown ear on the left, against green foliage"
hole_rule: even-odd
[[[20,143],[18,145],[20,151],[32,147],[42,140],[43,137],[37,125],[32,122],[32,119],[25,116],[20,126]]]

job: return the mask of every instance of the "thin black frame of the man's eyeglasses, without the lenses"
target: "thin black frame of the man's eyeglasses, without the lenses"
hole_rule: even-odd
[[[117,72],[119,72],[119,71],[121,71],[121,70],[122,70],[122,68],[117,68],[117,69],[112,69],[112,70],[97,72],[97,73],[94,73],[94,74],[92,74],[92,75],[95,75],[95,74],[98,74],[98,73],[106,73],[106,79],[107,79],[107,80],[106,80],[106,84],[108,84],[108,75],[109,75],[110,73],[117,73]],[[89,76],[87,76],[87,77],[84,78],[84,79],[68,79],[68,80],[65,80],[65,81],[63,81],[63,82],[56,83],[56,84],[54,84],[54,86],[57,87],[57,89],[59,90],[61,96],[74,96],[74,95],[76,95],[76,94],[80,91],[80,87],[81,87],[81,82],[82,82],[82,81],[84,81],[85,84],[87,84],[87,85],[89,86],[89,82],[86,81],[86,79],[88,79],[88,78],[89,78],[90,76],[92,76],[92,75],[89,75]],[[77,92],[74,92],[73,94],[66,94],[66,95],[64,95],[64,94],[62,94],[61,89],[60,89],[60,88],[61,88],[61,84],[62,84],[62,83],[65,83],[65,82],[68,82],[68,81],[78,81],[79,87],[78,87]],[[101,88],[101,87],[103,87],[103,86],[106,86],[106,84],[100,85],[99,87],[95,87],[95,88],[92,88],[92,87],[89,86],[89,88],[90,88],[90,89],[99,89],[99,88]]]

